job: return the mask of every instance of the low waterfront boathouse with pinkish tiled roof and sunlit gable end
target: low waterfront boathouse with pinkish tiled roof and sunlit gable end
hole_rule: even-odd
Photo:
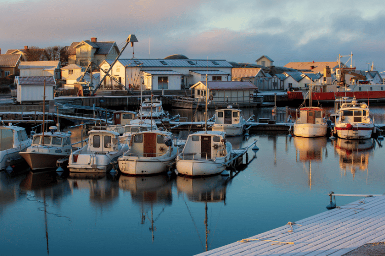
[[[258,88],[249,81],[209,81],[207,82],[209,100],[216,104],[247,104],[254,102]],[[206,97],[206,83],[198,82],[191,86],[195,98]]]

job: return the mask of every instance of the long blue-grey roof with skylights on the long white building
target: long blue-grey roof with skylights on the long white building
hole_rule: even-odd
[[[114,60],[105,60],[109,65],[113,63]],[[125,67],[188,67],[188,68],[207,68],[208,67],[226,67],[232,68],[233,66],[225,60],[175,60],[175,59],[119,59],[120,62]]]

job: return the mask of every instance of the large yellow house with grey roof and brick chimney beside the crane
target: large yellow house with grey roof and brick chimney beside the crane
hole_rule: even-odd
[[[68,65],[76,64],[86,68],[92,61],[99,66],[102,61],[118,57],[120,50],[115,42],[98,42],[96,37],[81,42],[72,42],[67,50]]]

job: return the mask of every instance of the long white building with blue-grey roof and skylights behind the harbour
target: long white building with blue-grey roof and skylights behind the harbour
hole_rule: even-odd
[[[100,79],[113,61],[105,60],[100,64]],[[119,59],[109,72],[114,79],[107,76],[101,88],[116,89],[121,83],[127,89],[139,89],[142,84],[147,90],[162,90],[167,83],[166,90],[187,89],[204,81],[207,70],[209,81],[228,81],[232,67],[225,60]]]

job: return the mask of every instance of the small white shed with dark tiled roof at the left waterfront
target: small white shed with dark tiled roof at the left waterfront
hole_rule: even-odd
[[[43,101],[44,86],[46,87],[46,101],[54,99],[56,81],[53,76],[16,76],[14,84],[16,84],[17,89],[16,99],[20,104]]]

